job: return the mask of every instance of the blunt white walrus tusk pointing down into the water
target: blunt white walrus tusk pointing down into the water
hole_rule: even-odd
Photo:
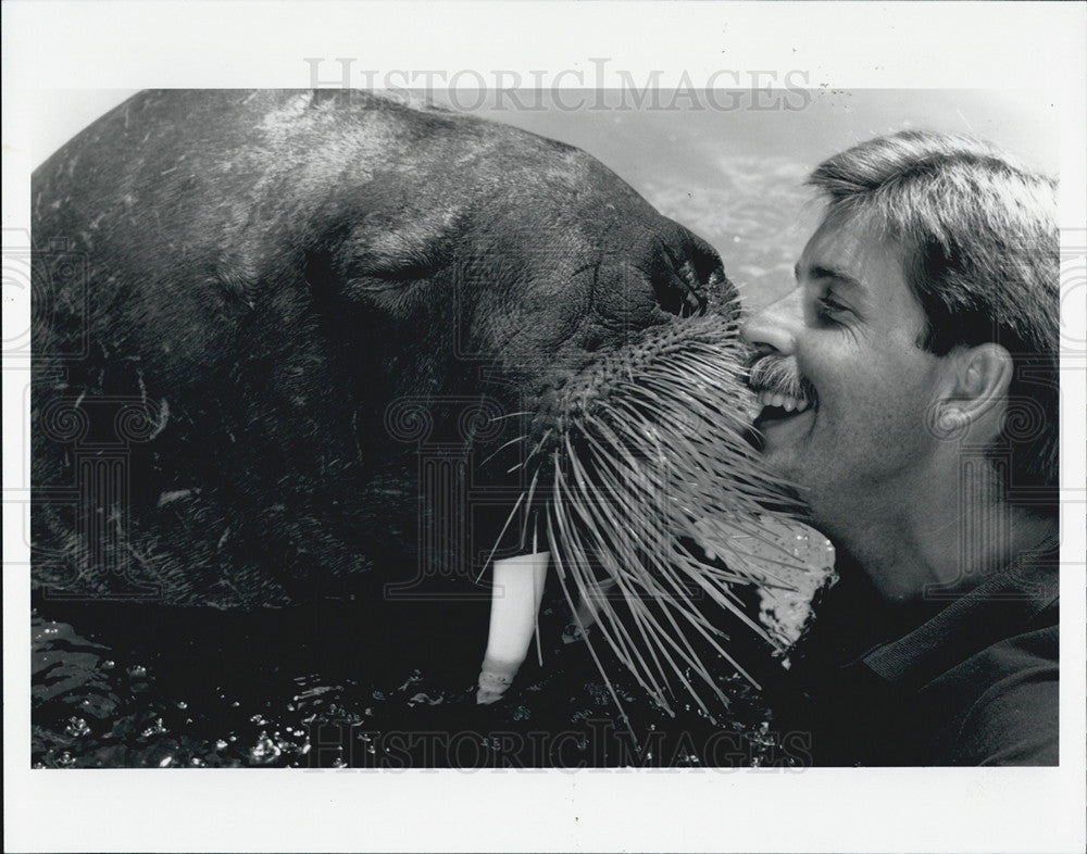
[[[534,552],[495,561],[490,629],[476,691],[479,705],[505,693],[528,654],[550,560],[550,552]]]

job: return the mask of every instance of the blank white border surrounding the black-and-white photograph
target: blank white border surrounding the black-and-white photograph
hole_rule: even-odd
[[[379,72],[517,70],[526,80],[542,70],[549,83],[580,71],[589,86],[594,58],[609,58],[612,73],[637,79],[661,71],[662,88],[684,73],[784,79],[802,68],[813,88],[1027,90],[1060,109],[1061,222],[1070,234],[1087,222],[1087,18],[1075,3],[118,1],[3,12],[5,240],[28,228],[35,103],[51,90],[304,88],[307,58]],[[576,88],[576,74],[561,85]],[[1082,248],[1084,235],[1072,237]],[[1084,301],[1064,302],[1082,341]],[[1062,519],[1059,768],[32,771],[27,555],[5,492],[4,847],[1082,851],[1087,354],[1070,351],[1065,367],[1062,482],[1078,499]],[[28,453],[9,442],[27,437],[20,394],[9,401],[18,371],[5,362],[5,487]]]

